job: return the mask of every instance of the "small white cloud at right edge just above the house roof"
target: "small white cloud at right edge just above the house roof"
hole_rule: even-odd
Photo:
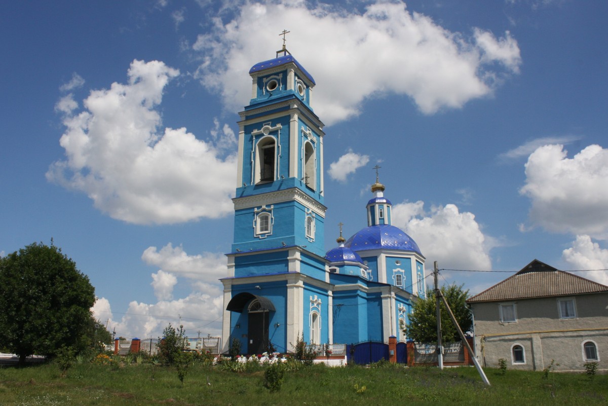
[[[562,252],[562,260],[572,266],[572,269],[591,269],[581,276],[608,285],[608,249],[602,249],[598,243],[593,243],[588,235],[577,235],[572,241],[572,247]]]

